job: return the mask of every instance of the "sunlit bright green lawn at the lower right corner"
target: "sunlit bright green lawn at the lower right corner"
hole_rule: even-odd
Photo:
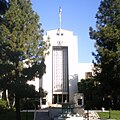
[[[104,119],[109,118],[109,112],[98,112],[98,115],[100,116],[100,118],[104,118]],[[110,118],[120,120],[120,111],[111,110]]]

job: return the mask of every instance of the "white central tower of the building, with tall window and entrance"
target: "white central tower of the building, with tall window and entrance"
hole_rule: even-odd
[[[72,31],[55,29],[47,31],[44,40],[50,38],[50,54],[46,56],[46,73],[42,88],[48,92],[47,104],[73,101],[78,82],[78,39]]]

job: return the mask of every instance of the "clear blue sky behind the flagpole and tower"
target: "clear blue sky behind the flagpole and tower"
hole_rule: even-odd
[[[90,63],[94,59],[94,40],[89,38],[89,27],[95,28],[95,15],[101,0],[31,0],[33,10],[40,16],[44,33],[59,28],[59,6],[62,7],[62,29],[78,36],[78,61]]]

